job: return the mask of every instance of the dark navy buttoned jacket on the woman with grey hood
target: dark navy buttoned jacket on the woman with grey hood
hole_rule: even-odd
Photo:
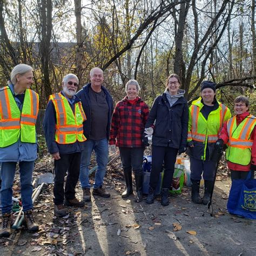
[[[152,145],[169,146],[174,149],[186,147],[188,126],[187,100],[181,97],[170,107],[165,93],[158,96],[154,100],[145,127],[148,128],[153,125]]]

